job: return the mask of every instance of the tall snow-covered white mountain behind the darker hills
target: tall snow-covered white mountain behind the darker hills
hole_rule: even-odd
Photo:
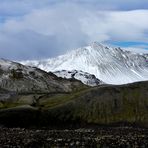
[[[148,54],[138,54],[99,43],[41,61],[25,61],[45,71],[82,70],[108,84],[148,80]]]

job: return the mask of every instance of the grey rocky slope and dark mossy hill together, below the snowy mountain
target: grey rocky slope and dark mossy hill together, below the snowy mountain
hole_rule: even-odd
[[[0,79],[3,126],[148,125],[148,81],[89,87],[7,60],[0,60]]]

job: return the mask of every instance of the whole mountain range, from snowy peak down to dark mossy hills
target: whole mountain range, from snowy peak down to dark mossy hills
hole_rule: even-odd
[[[26,65],[0,59],[0,125],[147,127],[147,60],[98,43]]]

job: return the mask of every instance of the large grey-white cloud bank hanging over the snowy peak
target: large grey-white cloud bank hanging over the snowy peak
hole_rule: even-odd
[[[53,56],[92,41],[148,42],[147,16],[148,10],[103,11],[76,3],[36,9],[0,25],[0,54],[11,48],[20,58],[33,58],[29,50]]]

